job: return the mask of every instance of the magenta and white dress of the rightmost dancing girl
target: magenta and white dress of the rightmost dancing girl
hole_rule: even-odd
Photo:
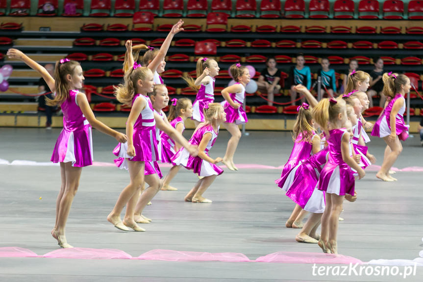
[[[408,128],[409,126],[405,125],[404,122],[404,112],[405,112],[405,99],[402,97],[401,94],[397,93],[394,99],[389,101],[388,105],[386,106],[383,114],[380,118],[376,121],[373,126],[372,136],[378,136],[380,138],[386,137],[391,134],[391,111],[394,103],[397,102],[398,99],[403,100],[403,104],[398,111],[397,116],[395,117],[395,129],[398,135],[399,140],[406,140],[408,138]]]

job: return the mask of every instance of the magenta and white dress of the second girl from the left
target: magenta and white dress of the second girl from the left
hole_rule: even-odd
[[[115,164],[120,169],[128,170],[127,161],[144,161],[146,162],[156,162],[159,159],[158,149],[157,149],[157,140],[154,121],[154,111],[153,106],[149,97],[142,94],[136,94],[132,100],[132,105],[136,99],[145,99],[146,107],[141,111],[137,120],[134,124],[134,131],[132,134],[132,142],[135,147],[135,156],[129,156],[126,151],[128,149],[128,143],[120,143],[113,150],[113,154],[118,156],[115,159]]]

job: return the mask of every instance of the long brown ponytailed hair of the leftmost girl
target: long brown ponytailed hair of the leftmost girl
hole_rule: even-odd
[[[60,61],[56,62],[56,66],[54,68],[54,88],[56,89],[56,96],[54,99],[49,99],[46,96],[46,104],[49,106],[56,106],[63,103],[66,99],[69,98],[69,91],[71,87],[69,82],[66,78],[67,75],[73,76],[75,73],[76,66],[80,66],[77,61],[67,61],[64,63],[60,63]]]

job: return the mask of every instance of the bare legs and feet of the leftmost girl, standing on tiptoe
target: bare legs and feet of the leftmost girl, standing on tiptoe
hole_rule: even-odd
[[[61,165],[62,167],[62,165]],[[71,162],[64,163],[66,186],[62,199],[60,200],[59,213],[57,215],[57,224],[53,232],[53,237],[57,238],[59,246],[62,248],[72,248],[66,241],[65,227],[71,211],[72,202],[78,191],[79,179],[81,178],[82,168],[73,167]]]

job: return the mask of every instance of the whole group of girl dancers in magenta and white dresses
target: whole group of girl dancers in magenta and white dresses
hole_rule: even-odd
[[[119,144],[113,150],[115,164],[129,172],[129,183],[122,190],[107,220],[124,231],[145,231],[138,223],[150,223],[143,215],[144,208],[159,190],[177,190],[171,181],[183,166],[193,170],[199,180],[184,200],[192,203],[212,203],[203,194],[223,169],[237,171],[233,156],[241,138],[239,125],[248,122],[243,110],[245,87],[250,81],[249,70],[240,63],[230,67],[235,84],[222,90],[224,102],[214,103],[215,77],[219,75],[218,62],[201,57],[197,61],[197,77],[185,77],[188,85],[198,94],[190,99],[170,101],[160,73],[164,71],[165,56],[175,34],[182,31],[180,20],[169,32],[159,50],[146,45],[125,44],[124,81],[115,89],[117,100],[131,107],[126,134],[107,127],[94,116],[86,96],[79,92],[83,84],[80,64],[67,58],[56,62],[54,76],[22,51],[9,49],[9,58],[20,59],[45,79],[53,99],[49,105],[60,105],[63,111],[61,131],[51,156],[60,163],[61,188],[56,201],[56,221],[51,235],[62,248],[72,248],[67,242],[65,226],[75,197],[82,167],[93,163],[91,128],[114,137]],[[145,50],[143,55],[140,51]],[[354,177],[364,177],[364,168],[375,158],[366,147],[369,138],[364,130],[373,125],[364,120],[361,112],[368,108],[365,91],[369,75],[357,71],[349,74],[346,93],[336,99],[317,101],[302,85],[295,87],[309,104],[302,103],[294,126],[294,149],[276,183],[296,203],[287,227],[301,228],[296,240],[318,243],[326,253],[337,253],[336,234],[344,197],[356,200]],[[376,177],[394,181],[389,174],[392,164],[402,150],[399,139],[407,137],[402,119],[405,109],[404,94],[410,81],[404,75],[385,74],[384,93],[390,97],[383,115],[373,127],[372,135],[383,138],[387,147],[382,168]],[[171,102],[168,117],[163,108]],[[196,129],[189,140],[182,136],[186,119],[192,118]],[[212,158],[208,152],[216,142],[220,125],[231,134],[223,158]],[[320,128],[322,134],[317,134]],[[158,165],[173,166],[163,178]],[[163,178],[163,179],[162,179]],[[145,183],[149,187],[145,188]],[[124,219],[121,213],[126,206]],[[302,226],[306,212],[312,215]],[[322,214],[323,213],[323,214]],[[321,235],[317,228],[322,222]]]

